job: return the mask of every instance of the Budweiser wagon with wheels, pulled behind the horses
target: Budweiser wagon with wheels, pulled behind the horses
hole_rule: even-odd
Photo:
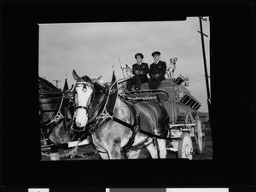
[[[197,113],[201,107],[186,87],[183,78],[165,79],[158,90],[148,90],[148,84],[142,84],[142,90],[126,92],[125,98],[132,103],[154,100],[162,102],[169,115],[168,137],[171,142],[166,149],[177,152],[178,158],[192,159],[195,153],[203,150],[203,125]]]

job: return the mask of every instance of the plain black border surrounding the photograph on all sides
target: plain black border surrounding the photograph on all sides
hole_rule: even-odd
[[[252,6],[249,1],[207,4],[153,0],[18,2],[1,4],[3,189],[25,191],[24,186],[238,188],[251,185],[253,84]],[[186,16],[211,16],[209,75],[213,160],[41,162],[38,23],[183,20]],[[101,55],[98,57],[101,60]]]

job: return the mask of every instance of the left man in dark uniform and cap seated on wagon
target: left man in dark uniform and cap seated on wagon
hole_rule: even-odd
[[[135,76],[131,80],[128,80],[128,84],[126,86],[128,91],[131,91],[132,85],[135,85],[135,90],[141,90],[141,84],[148,82],[148,63],[143,62],[143,57],[142,53],[137,53],[135,55],[137,63],[132,65],[132,74]]]

